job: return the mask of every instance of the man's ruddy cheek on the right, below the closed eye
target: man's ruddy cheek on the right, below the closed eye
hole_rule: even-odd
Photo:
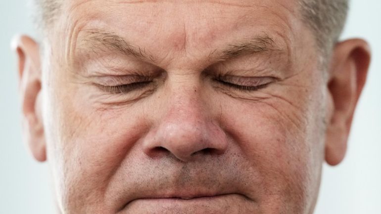
[[[317,192],[324,113],[321,90],[311,88],[280,90],[256,102],[231,102],[226,109],[233,111],[222,114],[232,141],[263,175],[266,194],[279,200],[309,201],[308,192]]]

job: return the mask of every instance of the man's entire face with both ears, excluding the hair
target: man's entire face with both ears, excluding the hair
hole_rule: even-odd
[[[322,66],[297,6],[68,0],[42,57],[19,37],[25,136],[48,160],[58,212],[312,214],[370,52],[337,43]]]

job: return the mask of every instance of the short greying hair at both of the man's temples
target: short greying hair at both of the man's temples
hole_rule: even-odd
[[[63,0],[33,0],[36,23],[43,32],[54,23]],[[348,0],[298,0],[301,18],[315,35],[318,49],[330,54],[344,28]]]

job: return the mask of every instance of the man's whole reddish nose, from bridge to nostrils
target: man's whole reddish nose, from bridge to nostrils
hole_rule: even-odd
[[[192,90],[194,91],[194,90]],[[172,94],[163,117],[145,137],[143,150],[150,157],[173,155],[189,162],[200,155],[221,155],[227,147],[226,134],[213,120],[197,93]]]

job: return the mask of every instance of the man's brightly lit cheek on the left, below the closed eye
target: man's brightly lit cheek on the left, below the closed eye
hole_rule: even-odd
[[[61,207],[81,213],[75,207],[84,202],[101,204],[110,177],[147,123],[138,108],[102,110],[73,85],[55,83],[47,94],[48,159]]]

